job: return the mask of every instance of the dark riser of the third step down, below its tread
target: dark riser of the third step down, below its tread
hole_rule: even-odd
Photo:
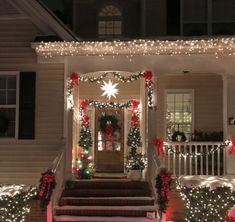
[[[73,205],[73,206],[143,206],[154,205],[154,200],[60,200],[60,206]]]

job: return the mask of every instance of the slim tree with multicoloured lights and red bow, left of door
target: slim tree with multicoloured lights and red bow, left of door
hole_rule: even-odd
[[[76,171],[80,179],[90,179],[93,173],[93,162],[91,156],[92,138],[89,126],[89,117],[87,115],[88,101],[83,100],[80,105],[81,113],[81,130],[79,138],[79,146],[82,151],[77,160]]]

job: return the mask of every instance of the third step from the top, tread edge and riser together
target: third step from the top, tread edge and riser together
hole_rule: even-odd
[[[76,206],[143,206],[154,205],[152,197],[93,197],[93,198],[76,198],[64,197],[59,202],[60,206],[76,205]]]

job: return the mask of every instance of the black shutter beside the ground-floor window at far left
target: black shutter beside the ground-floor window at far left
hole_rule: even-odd
[[[20,73],[19,139],[35,137],[35,72]]]

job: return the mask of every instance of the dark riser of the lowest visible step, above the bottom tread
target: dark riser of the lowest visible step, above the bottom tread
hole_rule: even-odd
[[[106,211],[99,211],[99,210],[56,210],[56,215],[71,215],[71,216],[121,216],[121,217],[146,217],[146,211],[128,211],[128,210],[106,210]]]

